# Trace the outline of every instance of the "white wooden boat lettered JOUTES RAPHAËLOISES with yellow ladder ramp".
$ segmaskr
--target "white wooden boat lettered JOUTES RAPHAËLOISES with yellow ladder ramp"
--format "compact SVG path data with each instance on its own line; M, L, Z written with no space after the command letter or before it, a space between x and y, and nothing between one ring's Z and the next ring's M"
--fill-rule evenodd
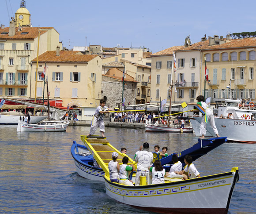
M108 162L116 149L106 138L81 136L105 172L105 189L118 202L158 213L226 214L236 182L238 167L230 172L184 181L166 180L163 184L121 185L109 179ZM142 179L143 180L143 179Z

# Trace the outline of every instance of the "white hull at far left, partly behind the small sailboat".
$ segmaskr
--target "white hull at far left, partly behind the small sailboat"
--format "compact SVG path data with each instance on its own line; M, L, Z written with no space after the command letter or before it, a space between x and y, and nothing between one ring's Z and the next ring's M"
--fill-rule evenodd
M20 117L23 118L23 116L19 115L0 114L0 124L17 125L20 120ZM30 124L39 123L40 121L45 120L46 118L47 116L30 116Z

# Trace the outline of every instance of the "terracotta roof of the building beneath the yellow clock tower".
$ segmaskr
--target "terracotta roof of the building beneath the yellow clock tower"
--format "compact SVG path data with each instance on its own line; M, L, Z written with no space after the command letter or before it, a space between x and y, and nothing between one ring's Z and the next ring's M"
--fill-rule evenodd
M6 27L4 29L0 28L0 39L5 39L5 40L23 40L23 39L35 39L38 37L38 31L39 29L43 29L43 28L39 28L39 27L22 27L22 31L18 31L19 28L15 28L15 35L14 36L9 36L9 34L1 34L3 32L8 32L9 33L9 27ZM45 28L47 29L47 28ZM25 33L28 32L27 34L21 34L21 33ZM41 30L40 34L46 33L46 30Z

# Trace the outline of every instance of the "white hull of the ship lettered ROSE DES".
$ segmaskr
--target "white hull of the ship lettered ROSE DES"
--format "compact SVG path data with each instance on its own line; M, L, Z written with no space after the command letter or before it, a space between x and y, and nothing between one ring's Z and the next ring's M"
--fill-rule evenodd
M194 118L198 123L200 123L202 120L202 117ZM218 134L220 136L226 136L228 141L256 143L256 138L253 134L256 131L255 120L225 119L216 117L215 125L218 129ZM215 135L213 129L208 123L206 125L206 130L208 133L213 134L212 136Z

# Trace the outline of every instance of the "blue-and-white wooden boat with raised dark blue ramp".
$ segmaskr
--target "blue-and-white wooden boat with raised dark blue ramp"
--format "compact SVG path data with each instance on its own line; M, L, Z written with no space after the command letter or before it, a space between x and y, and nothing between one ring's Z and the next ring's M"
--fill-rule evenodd
M84 139L81 139L84 142ZM93 136L94 138L98 138L99 136ZM188 148L182 152L178 152L177 156L179 161L184 165L184 157L186 155L190 155L193 158L193 161L197 160L201 156L207 154L211 150L215 149L216 147L222 145L226 142L226 137L222 138L204 138L204 139L198 139L198 143L193 145L191 148ZM72 147L71 147L71 154L75 161L75 168L77 173L82 176L83 178L87 178L90 180L97 180L97 181L104 181L104 171L102 168L94 167L93 166L93 156L87 155L83 156L83 154L88 154L88 149L84 145L77 144L76 141L73 141ZM124 154L117 151L118 154L121 156L124 156ZM160 159L159 156L154 153L154 159ZM165 164L172 164L172 155L169 155L167 157L164 157L161 159L162 165ZM120 157L121 158L121 157ZM109 160L110 161L110 160ZM121 163L121 162L120 162ZM165 167L168 170L168 167Z

